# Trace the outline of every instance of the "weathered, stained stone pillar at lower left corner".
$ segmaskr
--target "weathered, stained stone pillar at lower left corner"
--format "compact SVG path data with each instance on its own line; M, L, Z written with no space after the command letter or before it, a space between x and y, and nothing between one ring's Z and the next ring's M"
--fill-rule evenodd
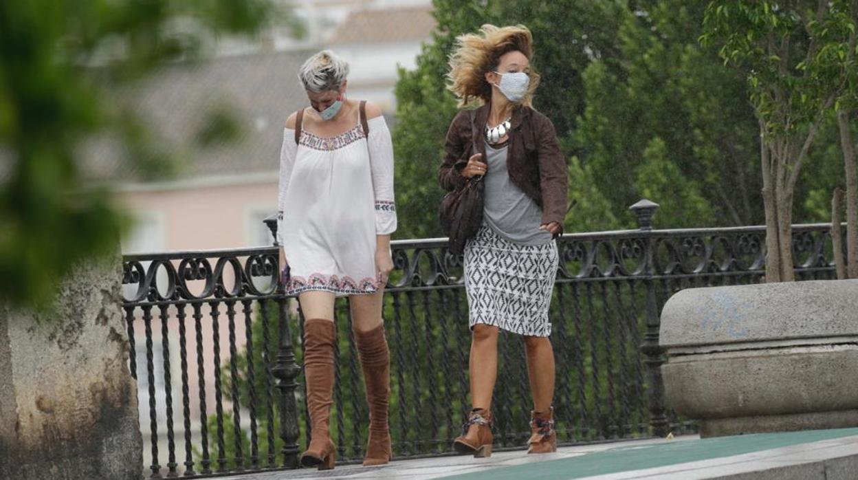
M82 264L51 311L0 306L0 478L141 478L120 265Z

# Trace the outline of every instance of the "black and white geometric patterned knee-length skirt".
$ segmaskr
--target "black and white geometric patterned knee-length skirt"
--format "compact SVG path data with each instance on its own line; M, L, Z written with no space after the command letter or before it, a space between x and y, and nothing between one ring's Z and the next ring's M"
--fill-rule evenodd
M465 246L470 327L486 324L529 337L551 335L548 307L557 266L555 242L517 244L484 225Z

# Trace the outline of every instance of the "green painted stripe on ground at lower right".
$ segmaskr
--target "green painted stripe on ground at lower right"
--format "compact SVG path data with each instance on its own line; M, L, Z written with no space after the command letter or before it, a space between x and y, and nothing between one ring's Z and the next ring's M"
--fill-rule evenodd
M720 459L745 453L762 452L773 448L789 447L801 443L824 441L858 435L858 428L809 430L776 434L747 434L692 441L666 441L643 447L618 447L604 452L586 453L567 459L547 460L528 465L515 465L466 473L447 480L568 480L571 478L607 475L620 471L644 470L678 465L699 460Z

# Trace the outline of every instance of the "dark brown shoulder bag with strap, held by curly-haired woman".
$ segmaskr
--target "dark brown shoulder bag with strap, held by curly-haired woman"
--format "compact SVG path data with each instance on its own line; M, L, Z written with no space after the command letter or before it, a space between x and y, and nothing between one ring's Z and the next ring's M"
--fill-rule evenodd
M474 128L474 111L471 111L471 138L475 139L476 129ZM476 144L472 142L470 155L477 151ZM466 152L466 157L470 155ZM461 255L465 251L465 244L468 243L482 227L483 208L485 206L485 198L483 194L482 176L471 177L462 186L450 193L444 195L441 200L441 209L438 212L441 228L444 229L444 234L450 238L450 252L454 255Z

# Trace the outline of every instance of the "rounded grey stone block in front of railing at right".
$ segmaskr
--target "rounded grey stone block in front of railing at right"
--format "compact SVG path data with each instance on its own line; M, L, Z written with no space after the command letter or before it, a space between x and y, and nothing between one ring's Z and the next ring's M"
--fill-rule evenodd
M858 426L858 280L683 290L660 344L668 406L704 437Z

